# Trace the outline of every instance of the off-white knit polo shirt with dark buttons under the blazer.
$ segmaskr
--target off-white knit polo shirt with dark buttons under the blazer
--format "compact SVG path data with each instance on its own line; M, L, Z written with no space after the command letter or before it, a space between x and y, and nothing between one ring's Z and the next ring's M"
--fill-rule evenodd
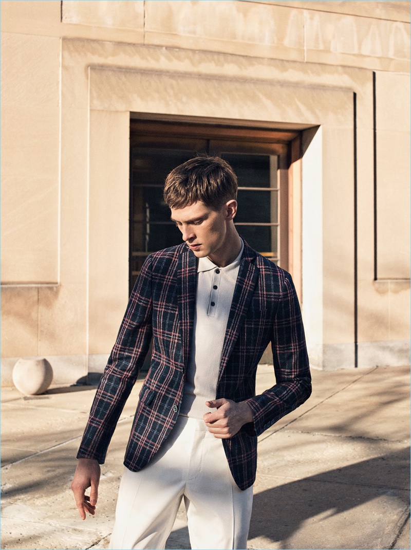
M207 257L198 260L196 312L190 359L186 372L182 416L202 419L212 412L205 401L215 399L218 372L232 296L244 250L226 267L218 267Z

